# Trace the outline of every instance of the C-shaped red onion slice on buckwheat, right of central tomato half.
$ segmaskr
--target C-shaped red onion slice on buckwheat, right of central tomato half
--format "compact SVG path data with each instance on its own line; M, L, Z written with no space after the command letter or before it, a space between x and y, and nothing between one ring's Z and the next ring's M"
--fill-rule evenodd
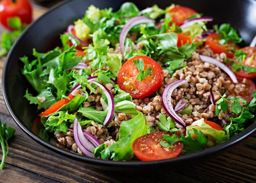
M179 87L180 85L183 85L186 82L187 81L185 79L173 81L172 83L166 86L162 94L162 103L165 111L174 121L176 121L183 127L186 127L186 123L182 120L182 118L180 118L180 116L176 114L172 104L168 105L168 102L171 102L171 95L173 93L173 90Z

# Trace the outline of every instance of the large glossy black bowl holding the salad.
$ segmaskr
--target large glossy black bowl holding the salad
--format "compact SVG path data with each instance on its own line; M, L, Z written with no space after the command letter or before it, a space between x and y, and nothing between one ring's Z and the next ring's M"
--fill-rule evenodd
M136 171L152 168L153 170L161 170L164 167L177 169L178 167L184 168L194 163L203 162L223 153L229 147L256 131L256 124L253 124L234 138L201 152L168 160L150 162L104 161L80 156L57 147L54 141L51 140L49 133L43 130L40 123L34 122L36 106L29 105L29 102L23 97L26 89L31 89L31 87L26 78L21 74L22 63L19 61L19 58L24 55L32 55L33 48L36 48L40 52L46 52L56 46L60 46L61 41L59 40L59 35L65 31L67 25L71 24L77 18L83 17L85 10L90 4L94 4L99 8L112 7L115 11L123 2L125 0L71 0L63 2L36 20L17 40L8 54L4 66L2 89L4 100L11 116L26 134L41 145L54 150L56 153L83 162L86 165L113 171ZM153 4L158 4L159 7L165 8L171 3L188 6L200 13L204 13L205 16L212 16L214 17L214 24L230 23L243 37L244 41L241 43L241 46L249 45L249 42L256 35L256 1L253 0L147 0L144 2L135 2L139 9L144 9Z

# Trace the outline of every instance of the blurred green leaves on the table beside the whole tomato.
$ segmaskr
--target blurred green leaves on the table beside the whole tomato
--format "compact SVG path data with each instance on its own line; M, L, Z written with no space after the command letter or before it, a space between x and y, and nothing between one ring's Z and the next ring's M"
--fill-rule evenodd
M3 31L1 38L1 46L0 57L4 56L11 49L15 40L20 36L20 34L26 29L27 25L22 25L19 17L15 16L7 19L7 23L9 27L14 28L15 30L12 32Z

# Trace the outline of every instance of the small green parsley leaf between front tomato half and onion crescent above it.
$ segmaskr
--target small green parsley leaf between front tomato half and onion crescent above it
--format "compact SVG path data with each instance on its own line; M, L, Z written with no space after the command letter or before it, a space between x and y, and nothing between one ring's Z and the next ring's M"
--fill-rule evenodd
M164 114L161 113L159 121L160 122L157 123L157 126L159 127L159 129L161 131L170 132L170 133L174 133L174 132L179 131L177 128L175 128L175 124L173 122L173 119L170 116L168 116L168 118L166 120L166 117L164 116Z

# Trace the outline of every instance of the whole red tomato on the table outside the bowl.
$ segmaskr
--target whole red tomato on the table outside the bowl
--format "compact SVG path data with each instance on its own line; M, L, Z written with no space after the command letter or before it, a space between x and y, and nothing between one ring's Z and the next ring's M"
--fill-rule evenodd
M10 30L13 28L8 26L7 19L12 17L20 17L22 24L29 25L32 21L32 8L28 0L1 0L0 1L0 22Z

